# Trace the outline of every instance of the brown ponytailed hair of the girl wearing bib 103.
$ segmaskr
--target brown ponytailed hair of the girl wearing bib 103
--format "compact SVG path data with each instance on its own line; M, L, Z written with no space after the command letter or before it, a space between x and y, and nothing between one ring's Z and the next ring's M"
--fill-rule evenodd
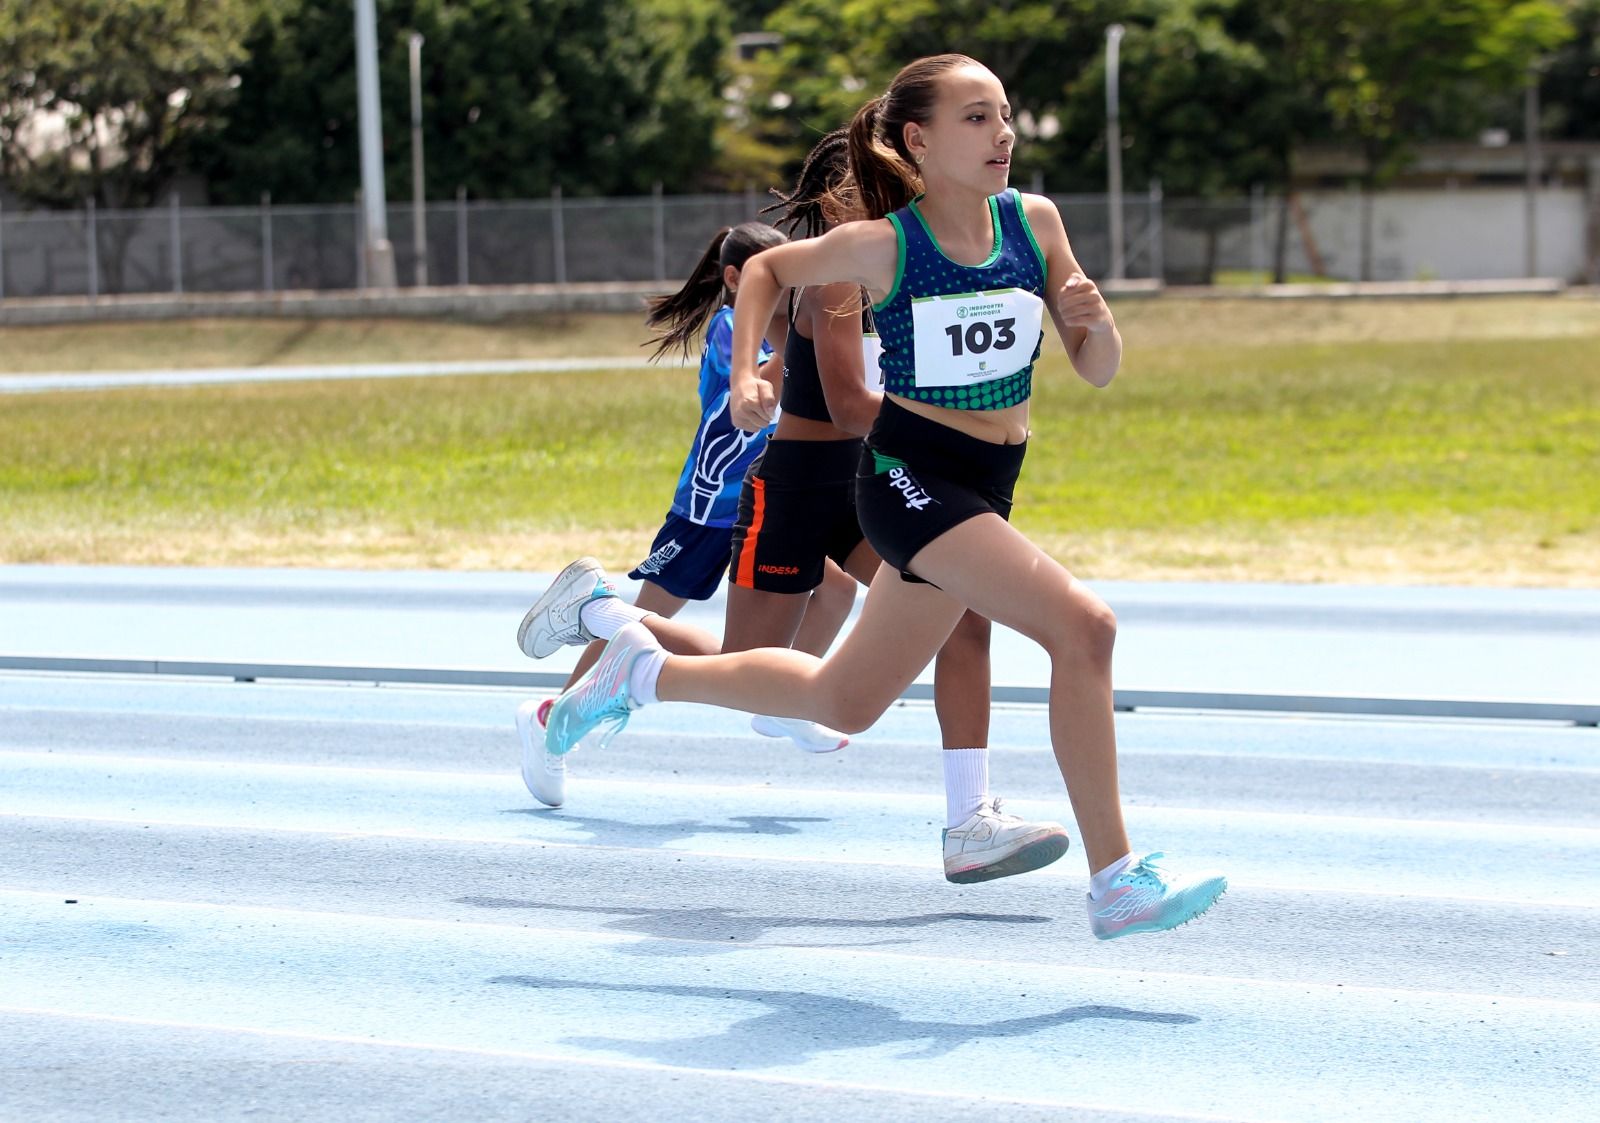
M982 62L966 54L930 54L907 62L883 94L856 110L850 122L850 168L867 218L883 218L922 190L922 174L906 147L906 126L933 120L939 78L963 66Z

